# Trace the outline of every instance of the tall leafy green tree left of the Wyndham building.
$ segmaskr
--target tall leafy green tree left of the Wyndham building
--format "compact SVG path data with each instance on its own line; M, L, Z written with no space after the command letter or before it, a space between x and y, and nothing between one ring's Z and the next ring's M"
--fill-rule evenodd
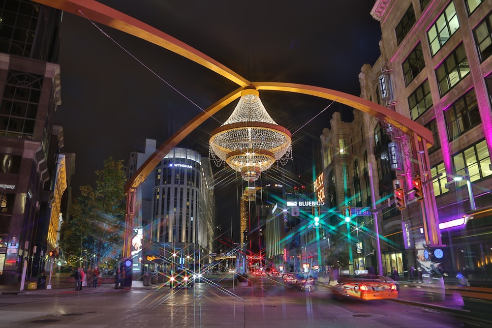
M123 160L109 157L103 162L104 168L95 172L95 190L90 185L80 187L80 196L70 209L70 220L62 224L60 245L69 263L82 258L83 262L96 265L123 249Z

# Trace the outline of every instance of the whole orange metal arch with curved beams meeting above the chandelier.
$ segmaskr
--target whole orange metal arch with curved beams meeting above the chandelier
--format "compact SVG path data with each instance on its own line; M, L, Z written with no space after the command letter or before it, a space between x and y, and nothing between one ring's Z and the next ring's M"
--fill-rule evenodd
M217 74L227 78L233 83L239 85L239 89L229 93L215 104L210 106L206 113L200 113L194 119L187 122L178 132L173 134L159 149L155 150L154 154L138 169L125 185L127 192L127 217L125 226L125 236L123 245L123 255L130 254L130 230L133 224L133 197L134 190L142 183L153 168L157 165L160 159L166 155L171 149L177 146L186 135L198 127L210 116L214 115L220 109L239 98L241 91L246 87L254 87L258 90L277 90L289 91L296 93L308 94L316 97L331 99L350 107L359 109L370 115L385 119L388 123L396 125L405 132L412 132L417 139L422 140L425 145L430 147L433 144L431 131L424 128L413 120L389 110L386 107L336 90L313 87L307 85L290 84L290 83L251 83L244 77L235 73L231 69L213 60L198 50L188 46L180 40L160 31L152 26L145 24L131 16L128 16L120 11L108 7L94 0L34 0L38 3L45 4L65 12L88 18L91 21L102 23L106 26L121 30L128 34L134 35L141 39L152 42L162 48L168 49L178 55L181 55L189 60L192 60L204 67L209 68Z

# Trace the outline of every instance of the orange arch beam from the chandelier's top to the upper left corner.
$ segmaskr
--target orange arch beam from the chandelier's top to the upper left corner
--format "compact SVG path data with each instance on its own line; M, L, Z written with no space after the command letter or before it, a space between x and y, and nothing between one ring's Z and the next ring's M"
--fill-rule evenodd
M207 67L240 87L246 87L251 84L241 75L195 48L188 46L186 43L100 2L94 0L34 1L83 18L88 18L91 21L104 24L116 30L121 30L140 39L154 43L155 45Z

